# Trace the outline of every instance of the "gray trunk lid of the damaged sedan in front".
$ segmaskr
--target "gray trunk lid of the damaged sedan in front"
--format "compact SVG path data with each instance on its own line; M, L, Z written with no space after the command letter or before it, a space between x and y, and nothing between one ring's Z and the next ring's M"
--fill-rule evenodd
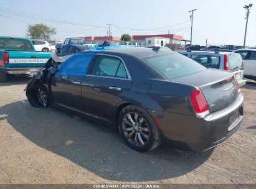
M171 81L199 87L206 98L210 113L229 106L239 95L234 75L229 71L207 69Z

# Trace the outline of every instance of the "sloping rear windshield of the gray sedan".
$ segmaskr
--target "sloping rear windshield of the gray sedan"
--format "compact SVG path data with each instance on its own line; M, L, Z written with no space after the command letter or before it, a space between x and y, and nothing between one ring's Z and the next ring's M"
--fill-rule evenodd
M168 80L207 69L179 53L146 57L142 60Z

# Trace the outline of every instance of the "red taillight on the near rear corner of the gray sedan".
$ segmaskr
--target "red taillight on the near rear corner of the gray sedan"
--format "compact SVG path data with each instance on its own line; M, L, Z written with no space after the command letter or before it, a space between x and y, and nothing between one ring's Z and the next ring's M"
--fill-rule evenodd
M204 116L209 114L206 98L204 98L204 94L202 94L202 91L199 88L192 91L190 99L197 117L204 118Z

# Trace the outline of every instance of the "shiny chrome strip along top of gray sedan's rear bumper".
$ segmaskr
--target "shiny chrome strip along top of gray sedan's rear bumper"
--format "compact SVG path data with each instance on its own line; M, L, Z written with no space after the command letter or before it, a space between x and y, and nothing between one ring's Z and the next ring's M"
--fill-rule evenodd
M222 118L224 116L227 116L227 114L232 113L233 111L235 111L235 109L239 108L242 103L244 102L244 96L242 96L242 94L239 94L238 99L229 107L222 109L216 113L212 113L207 115L206 117L204 117L204 120L206 121L214 121L216 119Z

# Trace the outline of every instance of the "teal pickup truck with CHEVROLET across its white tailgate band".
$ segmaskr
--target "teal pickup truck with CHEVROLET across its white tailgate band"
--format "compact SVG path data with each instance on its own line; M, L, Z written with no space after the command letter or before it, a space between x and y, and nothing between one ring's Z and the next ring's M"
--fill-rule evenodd
M0 81L6 81L7 74L36 73L49 60L50 54L36 52L30 39L0 36Z

